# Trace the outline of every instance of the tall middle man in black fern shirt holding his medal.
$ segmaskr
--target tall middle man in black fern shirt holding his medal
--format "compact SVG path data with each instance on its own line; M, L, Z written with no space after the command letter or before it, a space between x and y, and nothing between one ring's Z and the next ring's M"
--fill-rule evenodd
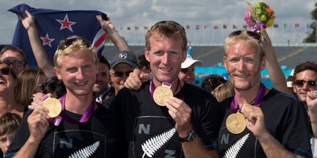
M145 41L152 80L142 84L138 77L141 89L124 87L112 104L124 121L129 157L214 154L218 102L211 93L178 78L181 63L186 59L185 29L174 21L161 21L151 27ZM166 106L153 100L156 89L161 93L159 98L167 93L159 87L171 90L173 97L167 98ZM196 150L197 146L208 150L201 152Z

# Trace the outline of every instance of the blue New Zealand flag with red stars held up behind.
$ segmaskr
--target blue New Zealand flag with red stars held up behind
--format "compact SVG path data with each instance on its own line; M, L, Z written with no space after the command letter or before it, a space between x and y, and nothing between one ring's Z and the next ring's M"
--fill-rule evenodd
M95 47L98 56L101 56L106 34L96 19L96 14L101 15L106 20L107 15L103 12L96 10L61 11L36 9L31 8L25 3L17 5L9 11L23 17L25 10L28 10L35 17L35 25L37 25L37 29L39 30L39 36L52 63L59 42L68 38L68 36L74 35L88 39L93 47ZM32 52L28 32L20 20L14 32L12 46L23 49L30 67L37 67L37 61Z

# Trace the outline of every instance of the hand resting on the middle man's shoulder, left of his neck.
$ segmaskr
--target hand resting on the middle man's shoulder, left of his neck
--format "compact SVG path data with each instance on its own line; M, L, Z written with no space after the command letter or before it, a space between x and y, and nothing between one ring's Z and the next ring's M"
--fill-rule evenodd
M124 86L128 89L138 90L141 88L142 82L150 80L150 75L145 74L139 69L134 69L132 73L130 73L127 80L125 80Z

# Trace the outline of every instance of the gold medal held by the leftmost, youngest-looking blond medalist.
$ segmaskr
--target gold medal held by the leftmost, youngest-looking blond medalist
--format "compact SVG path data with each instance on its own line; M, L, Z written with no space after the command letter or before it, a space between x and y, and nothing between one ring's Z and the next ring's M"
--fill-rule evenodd
M56 98L48 97L43 101L43 106L48 109L46 113L48 113L48 116L51 118L57 117L59 113L61 113L61 102Z

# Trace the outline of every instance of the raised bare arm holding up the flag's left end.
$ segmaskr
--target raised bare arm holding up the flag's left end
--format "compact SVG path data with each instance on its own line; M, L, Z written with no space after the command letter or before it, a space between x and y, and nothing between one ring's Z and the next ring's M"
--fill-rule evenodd
M34 16L25 10L24 17L19 16L19 14L18 17L25 27L25 30L28 31L32 51L35 59L37 60L37 65L39 65L39 69L41 69L47 77L56 76L54 66L50 62L48 52L46 52L46 49L42 45L37 26L35 25Z

